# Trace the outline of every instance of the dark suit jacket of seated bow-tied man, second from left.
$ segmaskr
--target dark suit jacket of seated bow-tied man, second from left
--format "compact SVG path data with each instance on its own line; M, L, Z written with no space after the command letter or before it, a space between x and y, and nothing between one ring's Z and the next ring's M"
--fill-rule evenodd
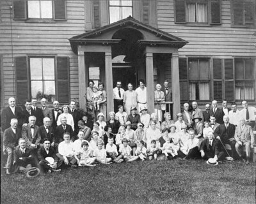
M32 135L29 124L28 126L22 127L21 135L22 135L22 138L24 138L26 141L26 147L29 147L31 144L40 145L41 138L40 138L40 135L38 134L38 131L39 131L39 127L35 126L34 134Z

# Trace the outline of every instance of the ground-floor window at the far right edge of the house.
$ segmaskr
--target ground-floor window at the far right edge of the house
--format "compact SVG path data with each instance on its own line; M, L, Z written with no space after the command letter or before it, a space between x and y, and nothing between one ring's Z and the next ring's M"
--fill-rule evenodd
M237 100L255 99L255 61L235 59L235 90Z

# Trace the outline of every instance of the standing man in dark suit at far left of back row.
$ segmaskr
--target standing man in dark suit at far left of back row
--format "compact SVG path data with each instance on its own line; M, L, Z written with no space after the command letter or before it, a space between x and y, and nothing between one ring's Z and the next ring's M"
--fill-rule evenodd
M18 128L22 127L22 110L20 107L15 106L15 98L8 99L9 106L4 108L1 113L1 128L4 132L5 129L10 128L11 120L18 119Z

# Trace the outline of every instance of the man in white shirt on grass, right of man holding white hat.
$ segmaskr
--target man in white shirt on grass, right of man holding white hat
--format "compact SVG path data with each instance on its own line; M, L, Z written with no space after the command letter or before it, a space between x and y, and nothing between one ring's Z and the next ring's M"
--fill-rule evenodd
M66 165L76 167L76 152L74 150L74 143L70 142L70 134L68 132L63 133L63 139L64 141L58 146L59 153L57 153L57 156L63 159Z

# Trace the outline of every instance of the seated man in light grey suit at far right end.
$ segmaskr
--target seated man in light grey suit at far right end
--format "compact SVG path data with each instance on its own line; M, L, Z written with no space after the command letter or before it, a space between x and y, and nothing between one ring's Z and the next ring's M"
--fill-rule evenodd
M246 164L249 163L250 147L254 145L254 135L252 127L246 125L245 119L239 120L240 124L236 127L235 140L236 140L236 152L238 156L242 157L241 147L245 147L246 150ZM244 160L244 159L243 159Z

